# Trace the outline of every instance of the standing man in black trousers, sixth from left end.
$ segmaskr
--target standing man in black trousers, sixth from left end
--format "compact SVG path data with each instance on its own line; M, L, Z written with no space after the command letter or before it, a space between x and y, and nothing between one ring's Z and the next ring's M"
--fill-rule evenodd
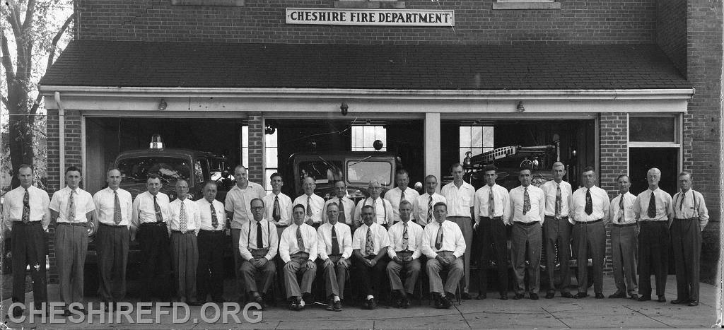
M224 229L226 213L224 204L216 200L216 182L203 185L203 198L196 200L198 208L198 268L196 268L196 293L198 302L205 303L211 294L214 303L224 302Z

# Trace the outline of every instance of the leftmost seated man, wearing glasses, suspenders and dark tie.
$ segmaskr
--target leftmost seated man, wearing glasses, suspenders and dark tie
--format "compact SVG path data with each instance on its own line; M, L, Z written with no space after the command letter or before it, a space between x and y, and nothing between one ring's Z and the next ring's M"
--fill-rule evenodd
M264 298L259 295L257 277L261 282L261 292L266 294L274 280L276 266L274 255L277 255L277 226L264 219L264 201L258 198L251 200L252 221L241 225L239 238L239 252L244 263L241 264L241 274L244 276L244 287L248 297L264 309Z

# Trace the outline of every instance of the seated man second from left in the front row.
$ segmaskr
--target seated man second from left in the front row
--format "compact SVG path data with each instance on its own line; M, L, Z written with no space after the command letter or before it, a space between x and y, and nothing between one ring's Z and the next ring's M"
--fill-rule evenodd
M311 293L316 275L316 230L304 223L305 210L301 204L292 208L294 223L284 229L282 240L279 241L279 255L285 262L284 285L291 310L304 309L303 296ZM297 274L302 274L301 285L297 283Z

